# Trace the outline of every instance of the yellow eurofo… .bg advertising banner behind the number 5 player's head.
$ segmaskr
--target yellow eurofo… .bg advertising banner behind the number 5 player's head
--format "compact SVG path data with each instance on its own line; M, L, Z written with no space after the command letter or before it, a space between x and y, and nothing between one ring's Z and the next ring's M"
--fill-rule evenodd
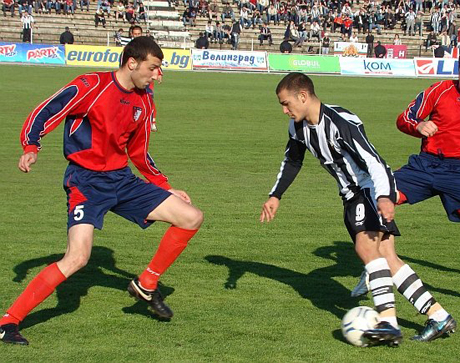
M122 50L122 47L66 44L66 64L93 68L118 68ZM189 49L163 49L163 54L163 69L192 69Z

